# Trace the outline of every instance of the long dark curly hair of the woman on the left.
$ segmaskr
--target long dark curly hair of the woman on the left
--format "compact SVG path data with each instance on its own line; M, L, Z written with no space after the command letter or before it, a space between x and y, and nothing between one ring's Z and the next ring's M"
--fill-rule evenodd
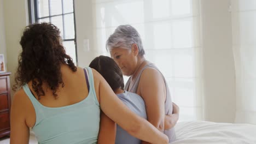
M61 65L67 64L72 71L77 71L62 45L59 28L45 22L29 25L24 29L20 45L22 52L19 55L14 91L32 81L32 88L40 99L40 96L45 95L42 85L47 83L57 98L57 89L60 85L64 87Z

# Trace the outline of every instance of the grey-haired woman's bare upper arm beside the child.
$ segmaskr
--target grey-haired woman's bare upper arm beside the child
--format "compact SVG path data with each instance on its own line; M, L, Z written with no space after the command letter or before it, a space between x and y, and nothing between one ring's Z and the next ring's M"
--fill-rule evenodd
M138 93L145 102L148 121L164 132L166 87L158 70L147 68L143 71Z

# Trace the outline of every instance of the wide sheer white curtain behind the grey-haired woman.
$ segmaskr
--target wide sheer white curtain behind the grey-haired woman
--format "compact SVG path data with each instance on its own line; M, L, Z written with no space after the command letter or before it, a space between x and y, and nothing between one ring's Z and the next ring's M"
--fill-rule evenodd
M108 55L106 40L117 26L132 25L146 58L166 77L180 119L202 119L199 1L96 0L92 8L97 53Z

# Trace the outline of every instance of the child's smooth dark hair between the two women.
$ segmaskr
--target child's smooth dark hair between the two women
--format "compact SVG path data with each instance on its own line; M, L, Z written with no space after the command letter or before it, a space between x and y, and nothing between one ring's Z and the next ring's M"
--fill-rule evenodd
M107 56L96 57L91 61L89 67L97 70L113 91L118 88L124 89L123 73L112 58Z

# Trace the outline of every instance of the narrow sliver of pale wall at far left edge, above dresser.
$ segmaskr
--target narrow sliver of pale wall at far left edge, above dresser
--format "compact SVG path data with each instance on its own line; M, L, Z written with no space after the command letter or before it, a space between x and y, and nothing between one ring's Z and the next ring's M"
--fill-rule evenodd
M5 47L3 0L0 0L0 54L4 55L4 61L5 61L5 67L6 67L7 54L6 54L6 47Z

